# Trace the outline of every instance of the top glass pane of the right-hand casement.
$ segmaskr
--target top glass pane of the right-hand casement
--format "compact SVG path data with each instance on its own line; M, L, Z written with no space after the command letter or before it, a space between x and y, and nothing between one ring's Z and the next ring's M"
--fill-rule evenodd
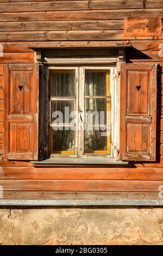
M110 95L110 70L85 71L85 95L109 96Z

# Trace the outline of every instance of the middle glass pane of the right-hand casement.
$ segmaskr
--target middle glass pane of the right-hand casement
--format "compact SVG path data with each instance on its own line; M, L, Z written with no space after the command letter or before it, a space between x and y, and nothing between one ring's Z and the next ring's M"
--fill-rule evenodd
M105 125L110 124L110 99L85 99L85 124Z

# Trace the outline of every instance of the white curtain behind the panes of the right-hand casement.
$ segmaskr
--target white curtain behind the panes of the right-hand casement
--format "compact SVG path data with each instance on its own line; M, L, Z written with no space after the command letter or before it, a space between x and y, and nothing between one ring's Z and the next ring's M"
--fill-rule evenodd
M106 96L106 73L105 72L87 72L85 75L85 95L87 96ZM85 99L85 111L106 112L106 100L99 98L86 98ZM97 115L98 117L98 115ZM90 120L91 119L91 120ZM92 117L86 115L86 124L92 123ZM95 117L93 117L93 125L96 123ZM99 124L99 119L98 119ZM98 127L87 127L85 131L84 141L85 150L104 150L106 147L106 137L101 137L101 130Z

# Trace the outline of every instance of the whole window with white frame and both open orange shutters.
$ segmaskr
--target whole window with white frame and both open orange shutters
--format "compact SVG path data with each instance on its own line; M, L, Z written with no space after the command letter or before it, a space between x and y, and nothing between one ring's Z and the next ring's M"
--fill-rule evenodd
M5 159L155 161L157 65L96 53L43 51L40 65L4 65Z

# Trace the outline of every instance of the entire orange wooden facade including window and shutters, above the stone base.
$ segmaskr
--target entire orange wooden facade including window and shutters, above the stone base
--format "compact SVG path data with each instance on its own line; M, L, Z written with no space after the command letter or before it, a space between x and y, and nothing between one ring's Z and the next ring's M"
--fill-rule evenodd
M0 204L163 205L163 2L0 3Z

